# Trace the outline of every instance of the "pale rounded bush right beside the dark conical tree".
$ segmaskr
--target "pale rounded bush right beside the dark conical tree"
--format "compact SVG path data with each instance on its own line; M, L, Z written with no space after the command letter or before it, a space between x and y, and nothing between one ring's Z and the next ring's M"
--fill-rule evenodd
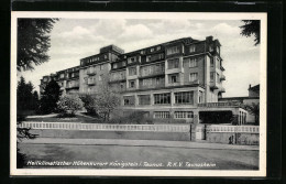
M57 108L62 115L75 116L77 110L82 109L84 104L81 99L76 95L61 96L57 101ZM69 116L70 115L70 116Z

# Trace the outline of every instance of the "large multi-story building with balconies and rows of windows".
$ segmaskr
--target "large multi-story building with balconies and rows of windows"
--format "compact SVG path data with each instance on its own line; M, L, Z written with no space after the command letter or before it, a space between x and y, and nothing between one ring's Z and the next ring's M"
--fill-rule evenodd
M220 42L184 37L124 53L116 45L80 59L80 65L44 76L55 78L65 93L92 94L108 78L121 95L120 110L145 111L150 117L186 119L199 122L206 112L231 112L244 123L246 111L231 102L218 102L223 88L223 61Z

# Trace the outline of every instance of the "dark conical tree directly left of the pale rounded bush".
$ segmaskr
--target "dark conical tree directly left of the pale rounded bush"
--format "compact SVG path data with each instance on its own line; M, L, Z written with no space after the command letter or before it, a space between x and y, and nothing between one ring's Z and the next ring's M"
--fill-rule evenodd
M62 91L58 84L52 79L45 87L40 100L40 113L51 113L56 110Z

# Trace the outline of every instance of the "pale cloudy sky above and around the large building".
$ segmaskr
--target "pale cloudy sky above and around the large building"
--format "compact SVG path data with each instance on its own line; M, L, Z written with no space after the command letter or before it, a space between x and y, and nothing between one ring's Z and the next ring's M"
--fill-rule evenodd
M239 20L190 19L61 19L51 32L50 61L33 72L18 72L38 90L40 79L79 65L79 59L114 44L127 52L180 37L205 40L212 35L221 43L227 80L223 97L248 96L249 85L260 84L260 45L254 37L240 35Z

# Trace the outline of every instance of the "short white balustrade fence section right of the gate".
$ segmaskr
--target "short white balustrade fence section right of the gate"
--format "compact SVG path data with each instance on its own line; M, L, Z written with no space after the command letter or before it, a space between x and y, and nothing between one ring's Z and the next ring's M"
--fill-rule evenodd
M207 132L260 133L258 126L208 126Z

